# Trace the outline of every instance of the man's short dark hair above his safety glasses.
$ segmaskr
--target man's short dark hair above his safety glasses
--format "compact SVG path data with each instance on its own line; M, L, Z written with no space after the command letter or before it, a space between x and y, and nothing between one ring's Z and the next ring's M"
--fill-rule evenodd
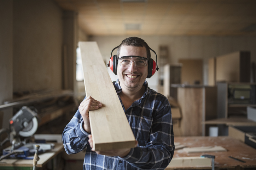
M145 47L146 48L146 52L147 52L147 58L151 58L151 53L150 53L150 48L149 45L147 45L147 43L138 37L129 37L126 38L122 41L122 43L118 46L116 55L117 57L119 57L120 54L120 49L123 45L130 45L130 46L140 46L140 47Z

